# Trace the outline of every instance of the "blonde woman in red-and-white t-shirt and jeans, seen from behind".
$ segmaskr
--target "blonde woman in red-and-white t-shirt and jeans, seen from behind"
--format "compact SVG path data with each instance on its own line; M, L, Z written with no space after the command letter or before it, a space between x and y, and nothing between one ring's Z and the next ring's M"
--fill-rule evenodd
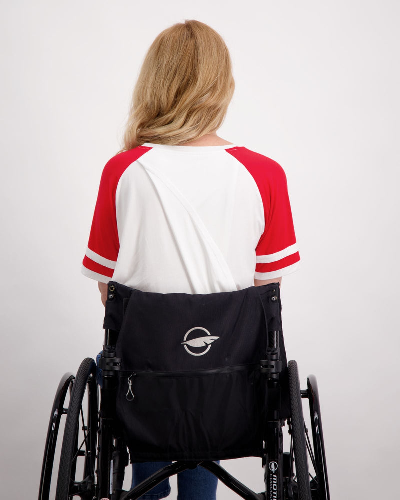
M281 282L299 262L287 184L273 160L220 138L234 90L227 47L186 21L151 45L122 152L105 166L82 272L159 293L214 293ZM134 464L133 483L163 463ZM178 500L211 500L201 467ZM164 498L164 481L143 496Z

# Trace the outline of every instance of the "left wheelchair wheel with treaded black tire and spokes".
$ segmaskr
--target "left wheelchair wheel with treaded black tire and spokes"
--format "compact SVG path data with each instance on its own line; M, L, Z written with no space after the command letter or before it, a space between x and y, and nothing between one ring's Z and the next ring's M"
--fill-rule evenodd
M87 391L87 409L82 403ZM95 460L98 429L98 389L96 363L83 360L73 383L62 441L55 500L73 496L92 500L95 496ZM83 432L83 436L79 435ZM76 480L78 459L83 458L82 479Z

